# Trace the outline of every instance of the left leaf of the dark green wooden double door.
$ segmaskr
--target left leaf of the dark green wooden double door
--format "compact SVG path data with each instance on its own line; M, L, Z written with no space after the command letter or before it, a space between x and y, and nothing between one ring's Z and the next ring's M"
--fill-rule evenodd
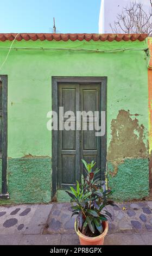
M76 103L77 102L77 103ZM74 83L60 83L58 86L58 109L64 107L60 117L62 125L68 121L67 111L74 112L72 127L76 128L76 111L79 110L79 87ZM59 111L59 110L58 110ZM65 126L64 126L65 127ZM58 188L69 188L79 180L79 131L62 130L58 132Z

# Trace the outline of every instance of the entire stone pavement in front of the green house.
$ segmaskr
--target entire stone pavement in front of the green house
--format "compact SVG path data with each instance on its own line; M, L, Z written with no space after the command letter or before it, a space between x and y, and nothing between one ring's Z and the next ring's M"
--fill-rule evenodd
M105 245L152 245L152 202L117 205ZM71 214L69 203L0 206L0 245L79 245Z

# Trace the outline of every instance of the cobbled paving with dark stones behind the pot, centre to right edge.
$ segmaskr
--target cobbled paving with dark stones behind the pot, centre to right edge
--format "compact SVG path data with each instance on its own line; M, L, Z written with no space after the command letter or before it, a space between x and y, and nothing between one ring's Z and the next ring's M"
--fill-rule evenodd
M126 233L131 230L136 232L152 231L152 202L117 205L118 207L107 206L107 210L112 215L112 220L109 220L109 233ZM75 216L71 218L71 212L69 203L54 204L45 233L73 234L75 232L73 229Z

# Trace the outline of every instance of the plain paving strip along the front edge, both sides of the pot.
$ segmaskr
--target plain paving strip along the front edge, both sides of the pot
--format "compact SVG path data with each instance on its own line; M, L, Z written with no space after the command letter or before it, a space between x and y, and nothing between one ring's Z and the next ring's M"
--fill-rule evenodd
M77 234L0 235L0 245L79 245ZM152 245L152 233L107 234L104 245Z

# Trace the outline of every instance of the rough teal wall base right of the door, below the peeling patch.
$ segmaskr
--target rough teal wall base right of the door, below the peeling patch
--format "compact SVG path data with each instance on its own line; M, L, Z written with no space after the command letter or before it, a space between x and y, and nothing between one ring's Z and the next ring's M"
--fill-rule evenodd
M107 163L108 186L115 190L113 197L118 200L142 199L149 193L148 159L125 159L117 166Z

